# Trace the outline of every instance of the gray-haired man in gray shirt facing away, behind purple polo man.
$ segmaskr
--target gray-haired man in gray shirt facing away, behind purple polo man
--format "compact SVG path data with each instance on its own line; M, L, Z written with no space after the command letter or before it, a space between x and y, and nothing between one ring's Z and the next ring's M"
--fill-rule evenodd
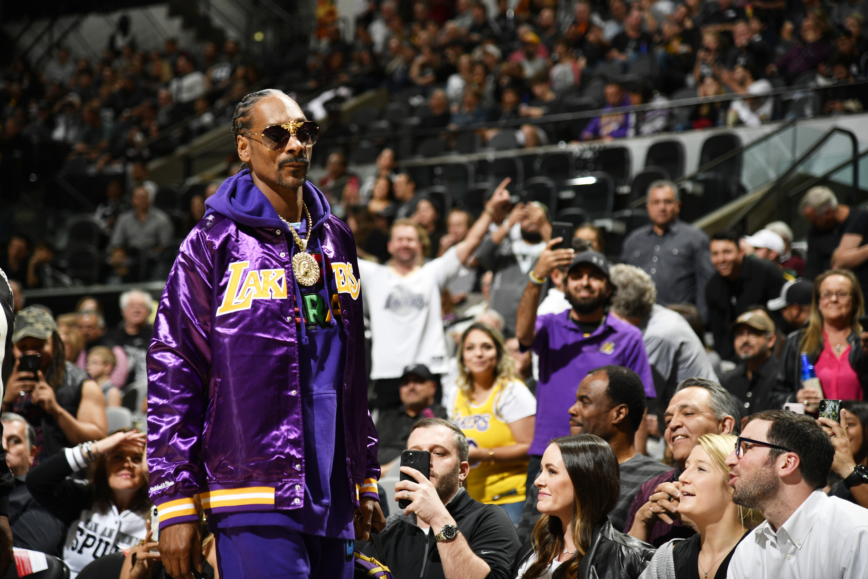
M657 288L648 273L618 264L609 275L617 288L610 313L641 330L660 408L666 408L675 387L685 378L718 382L705 346L687 319L655 303Z

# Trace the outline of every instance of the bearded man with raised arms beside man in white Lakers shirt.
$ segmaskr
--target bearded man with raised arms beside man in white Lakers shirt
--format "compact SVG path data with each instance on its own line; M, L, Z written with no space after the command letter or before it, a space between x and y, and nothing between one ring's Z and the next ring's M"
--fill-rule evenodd
M516 204L509 218L479 246L477 260L483 269L494 273L490 307L503 316L503 333L507 336L516 332L516 309L527 285L528 273L550 238L551 224L546 208L534 201Z

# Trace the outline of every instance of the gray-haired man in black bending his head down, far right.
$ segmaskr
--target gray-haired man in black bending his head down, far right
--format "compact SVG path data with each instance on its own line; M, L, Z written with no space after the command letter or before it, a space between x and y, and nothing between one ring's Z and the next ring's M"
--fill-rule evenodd
M865 212L838 203L838 197L827 187L812 187L799 201L799 214L811 224L808 229L808 253L805 260L806 280L813 280L832 266L832 253L845 232L856 225Z

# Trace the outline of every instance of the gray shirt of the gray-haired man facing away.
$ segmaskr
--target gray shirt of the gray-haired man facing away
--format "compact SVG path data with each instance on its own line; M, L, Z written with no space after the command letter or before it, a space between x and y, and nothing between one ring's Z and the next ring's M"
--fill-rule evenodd
M654 376L654 390L664 403L684 378L708 378L720 382L699 336L680 313L654 304L639 329Z

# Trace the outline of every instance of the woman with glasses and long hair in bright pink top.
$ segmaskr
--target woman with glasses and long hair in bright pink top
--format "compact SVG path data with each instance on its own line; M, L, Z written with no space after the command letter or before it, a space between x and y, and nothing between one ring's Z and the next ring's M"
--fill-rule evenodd
M819 405L821 398L865 399L868 391L868 332L859 324L865 300L856 276L845 269L831 269L814 280L808 325L793 332L780 352L778 380L771 401ZM801 352L807 352L823 395L804 388Z

